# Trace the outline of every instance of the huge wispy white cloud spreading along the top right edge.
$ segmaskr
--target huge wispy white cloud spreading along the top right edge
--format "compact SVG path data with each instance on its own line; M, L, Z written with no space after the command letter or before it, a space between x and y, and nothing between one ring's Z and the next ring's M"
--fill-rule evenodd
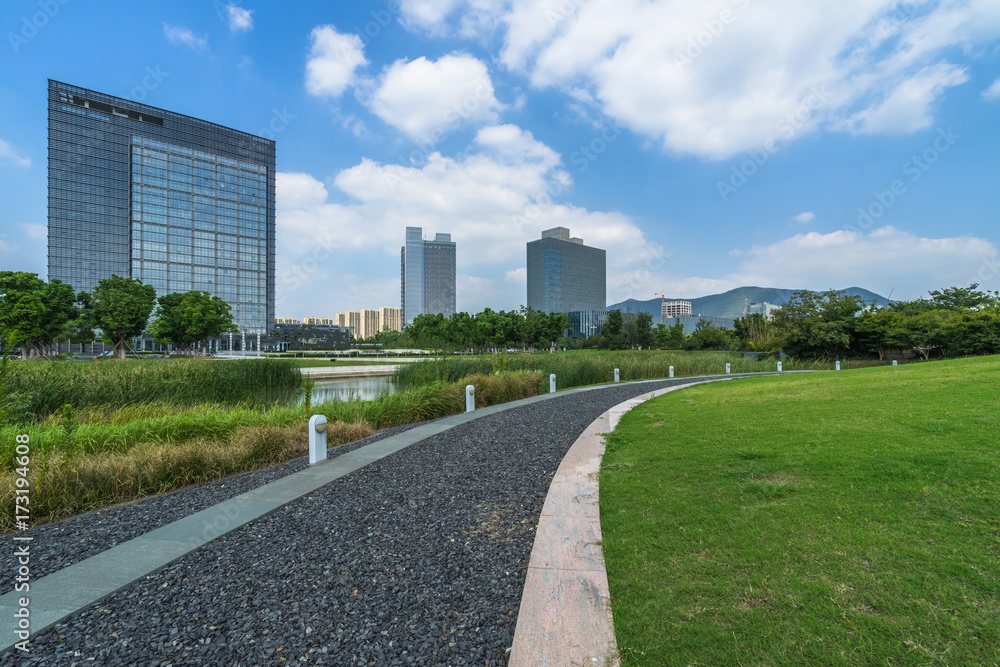
M414 0L430 32L485 0ZM404 3L405 4L405 3ZM910 132L1000 33L995 0L509 0L489 11L501 62L586 91L665 150L725 159L816 131ZM487 11L487 14L489 14Z

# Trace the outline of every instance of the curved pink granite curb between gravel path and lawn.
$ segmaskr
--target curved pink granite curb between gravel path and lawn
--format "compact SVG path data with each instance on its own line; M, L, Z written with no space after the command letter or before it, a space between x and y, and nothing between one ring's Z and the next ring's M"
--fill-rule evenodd
M598 475L603 436L640 403L704 382L659 389L619 403L570 447L538 518L510 652L512 667L619 664L601 551Z

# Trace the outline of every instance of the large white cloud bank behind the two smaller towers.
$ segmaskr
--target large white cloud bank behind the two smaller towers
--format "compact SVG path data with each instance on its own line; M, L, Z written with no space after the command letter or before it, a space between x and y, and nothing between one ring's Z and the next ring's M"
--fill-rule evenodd
M588 245L607 250L609 298L612 280L616 295L644 294L629 290L647 282L655 291L650 274L664 261L662 249L626 215L561 202L569 181L558 154L514 126L483 128L467 153L432 153L420 167L365 159L326 185L309 174L279 173L277 191L277 289L289 308L320 294L336 300L332 310L366 302L367 283L344 287L328 275L329 265L351 261L369 267L353 273L395 280L398 301L399 248L407 226L422 227L428 236L452 235L458 308L468 312L525 303L525 269L518 267L524 266L525 244L543 229L568 227ZM350 203L335 203L342 201ZM317 248L329 248L328 256L317 256ZM337 290L331 292L334 282Z

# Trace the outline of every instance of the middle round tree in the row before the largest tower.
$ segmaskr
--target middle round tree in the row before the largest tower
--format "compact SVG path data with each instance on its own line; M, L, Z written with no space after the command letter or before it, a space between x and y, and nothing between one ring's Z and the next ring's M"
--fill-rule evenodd
M125 341L146 329L155 303L152 285L115 275L97 281L92 302L94 323L104 342L115 346L117 359L125 359Z

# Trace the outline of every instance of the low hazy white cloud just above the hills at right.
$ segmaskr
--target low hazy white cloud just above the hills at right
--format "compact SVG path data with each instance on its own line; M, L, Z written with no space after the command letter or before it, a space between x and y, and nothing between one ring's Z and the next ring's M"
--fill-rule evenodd
M982 282L976 272L984 258L996 256L992 242L972 236L924 238L894 227L868 234L811 232L754 246L727 279L737 285L814 290L895 288L897 296L912 299L931 289Z

